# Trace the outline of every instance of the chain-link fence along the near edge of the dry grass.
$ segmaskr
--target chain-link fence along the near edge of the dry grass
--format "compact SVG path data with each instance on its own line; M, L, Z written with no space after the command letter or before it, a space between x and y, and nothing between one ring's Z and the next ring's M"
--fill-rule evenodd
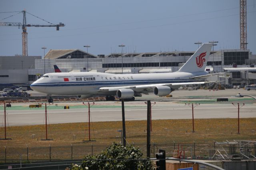
M146 158L146 144L134 144L138 146ZM106 145L93 143L70 144L69 146L40 146L40 147L0 147L1 162L12 160L81 160L85 155L94 155L107 148ZM241 158L256 158L255 143L239 146L239 144L212 145L193 143L176 144L151 144L150 157L154 158L159 149L166 151L166 157L190 158L190 159L214 159L232 158L240 155Z

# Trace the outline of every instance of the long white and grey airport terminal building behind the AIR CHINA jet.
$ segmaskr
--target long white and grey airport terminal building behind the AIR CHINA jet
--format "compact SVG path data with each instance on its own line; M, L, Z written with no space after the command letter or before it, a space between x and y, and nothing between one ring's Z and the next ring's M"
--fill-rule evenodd
M145 53L111 53L93 55L80 49L50 49L41 56L0 56L0 86L29 85L44 73L54 72L58 65L62 72L97 71L105 73L164 73L174 72L195 51L169 51ZM250 50L232 49L211 51L206 71L218 73L228 71L226 84L241 85L255 83L256 55Z

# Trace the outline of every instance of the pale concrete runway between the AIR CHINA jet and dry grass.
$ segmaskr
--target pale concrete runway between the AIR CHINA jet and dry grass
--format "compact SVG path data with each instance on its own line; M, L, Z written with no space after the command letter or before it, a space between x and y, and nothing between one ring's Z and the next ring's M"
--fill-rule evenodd
M225 92L233 93L232 91L220 91L223 95ZM247 92L247 91L243 91ZM252 93L253 92L253 93ZM207 95L209 91L182 91L183 94L197 93L200 95ZM177 94L182 94L177 93ZM212 93L211 93L212 94ZM255 95L254 95L255 94ZM256 96L256 92L251 91L250 95ZM148 99L152 98L159 100L154 95L146 96ZM145 99L143 96L140 99ZM179 96L186 98L187 96ZM162 99L162 98L160 98ZM194 102L198 103L198 99L166 99L157 101L152 106L152 119L192 119L192 109L184 103ZM240 118L256 117L256 102L248 98L232 98L228 102L216 102L216 99L200 99L201 104L194 109L194 119L209 119L209 118L237 118L238 109L232 105L234 103L245 103L240 109ZM208 102L202 102L208 101ZM199 102L200 103L200 102ZM56 103L55 103L56 104ZM88 122L88 108L80 103L57 103L56 105L48 107L48 121L51 124L56 123L78 123ZM7 108L7 118L9 126L20 125L42 125L45 121L44 107L41 109L28 108L29 103L13 103L12 108ZM64 109L64 105L70 105L70 109ZM122 108L120 101L97 101L95 105L90 108L91 121L122 121ZM0 121L3 122L3 109L0 110ZM125 119L130 120L146 120L147 105L144 101L130 101L125 102Z

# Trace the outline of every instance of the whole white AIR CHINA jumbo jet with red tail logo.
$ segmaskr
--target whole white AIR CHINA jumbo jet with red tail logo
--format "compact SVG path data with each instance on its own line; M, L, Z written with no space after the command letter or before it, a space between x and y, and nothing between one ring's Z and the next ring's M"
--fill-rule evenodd
M210 75L205 71L212 43L204 43L188 61L173 73L111 74L100 72L46 73L30 85L31 89L51 95L77 95L88 98L105 95L107 101L131 100L142 94L169 95L182 85L202 85L216 81L202 81ZM201 80L201 81L198 81Z

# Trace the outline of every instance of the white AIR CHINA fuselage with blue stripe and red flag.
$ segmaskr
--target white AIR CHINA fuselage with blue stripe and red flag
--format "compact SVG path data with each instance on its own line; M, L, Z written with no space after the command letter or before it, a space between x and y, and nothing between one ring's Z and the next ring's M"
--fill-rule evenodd
M99 89L100 87L193 82L195 80L189 79L190 77L206 74L208 73L205 71L142 74L46 73L32 83L30 87L33 90L49 95L115 95L114 91L100 91Z

